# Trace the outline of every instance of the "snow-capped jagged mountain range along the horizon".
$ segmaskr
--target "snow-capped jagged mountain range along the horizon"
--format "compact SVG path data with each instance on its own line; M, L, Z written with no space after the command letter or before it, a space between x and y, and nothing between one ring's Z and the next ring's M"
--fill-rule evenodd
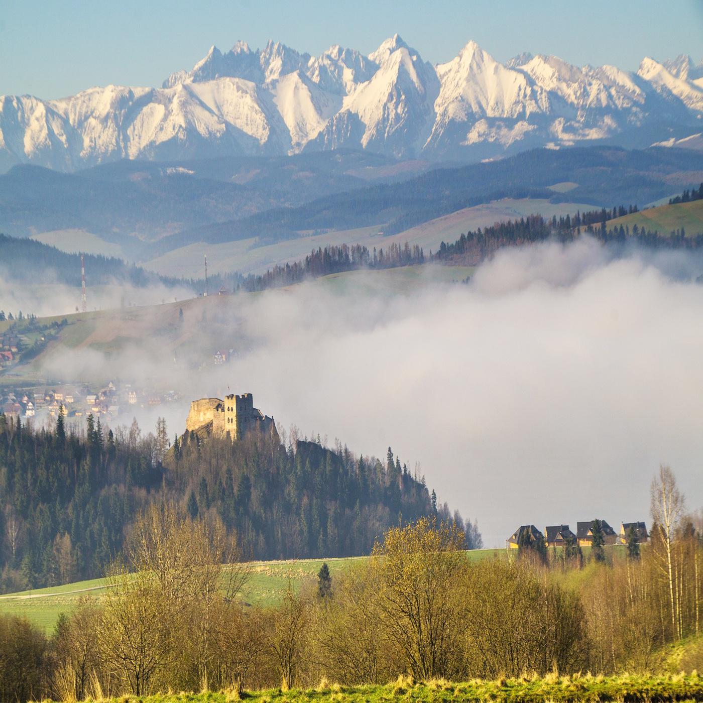
M334 148L477 160L594 141L674 144L702 126L703 62L688 56L645 58L631 73L525 53L503 64L474 41L432 65L398 34L368 56L238 42L213 46L160 89L1 96L0 171Z

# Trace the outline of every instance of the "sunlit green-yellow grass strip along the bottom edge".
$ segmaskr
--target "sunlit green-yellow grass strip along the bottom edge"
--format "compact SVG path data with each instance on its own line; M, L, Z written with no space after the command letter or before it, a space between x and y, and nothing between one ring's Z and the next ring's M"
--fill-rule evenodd
M401 676L394 683L386 685L340 686L323 681L317 688L245 692L241 698L259 703L312 703L328 700L375 703L396 699L476 703L703 701L703 677L697 673L688 676L627 673L619 676L592 676L586 673L573 676L548 674L543 678L525 676L496 681L475 679L463 683L444 680L414 683L411 678ZM238 699L240 698L234 692L170 693L146 697L124 695L104 699L103 703L232 703Z

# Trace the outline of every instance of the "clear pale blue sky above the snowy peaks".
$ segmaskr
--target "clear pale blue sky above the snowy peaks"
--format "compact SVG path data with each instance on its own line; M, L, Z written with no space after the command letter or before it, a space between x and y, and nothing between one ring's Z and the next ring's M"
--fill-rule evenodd
M531 51L636 70L645 55L703 58L703 1L1 0L0 95L160 85L237 39L368 53L395 32L432 63L475 39L498 60Z

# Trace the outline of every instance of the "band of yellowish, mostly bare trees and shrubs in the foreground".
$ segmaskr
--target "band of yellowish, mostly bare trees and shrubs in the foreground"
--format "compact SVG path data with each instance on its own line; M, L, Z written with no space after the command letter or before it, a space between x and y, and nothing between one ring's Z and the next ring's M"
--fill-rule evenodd
M105 595L60 618L50 640L37 631L33 640L4 638L21 621L0 620L0 654L31 662L23 677L0 673L0 697L241 697L247 688L393 680L404 695L413 680L661 670L665 645L699 633L703 595L700 525L683 511L666 468L652 482L652 519L652 543L641 553L583 567L576 555L525 545L471 560L456 525L423 517L386 531L367 560L335 576L323 565L316 583L252 607L240 597L247 568L219 517L153 504ZM22 647L34 657L22 658ZM700 650L678 650L679 669L700 663ZM626 697L638 695L652 691L631 688Z

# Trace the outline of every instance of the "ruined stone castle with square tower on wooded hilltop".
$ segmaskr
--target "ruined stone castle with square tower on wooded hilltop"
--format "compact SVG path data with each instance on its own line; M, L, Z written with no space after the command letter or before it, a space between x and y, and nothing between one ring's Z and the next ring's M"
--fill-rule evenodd
M191 402L186 419L186 430L212 437L227 437L232 441L242 439L250 430L276 432L273 418L254 408L251 393L228 395L219 398L201 398Z

